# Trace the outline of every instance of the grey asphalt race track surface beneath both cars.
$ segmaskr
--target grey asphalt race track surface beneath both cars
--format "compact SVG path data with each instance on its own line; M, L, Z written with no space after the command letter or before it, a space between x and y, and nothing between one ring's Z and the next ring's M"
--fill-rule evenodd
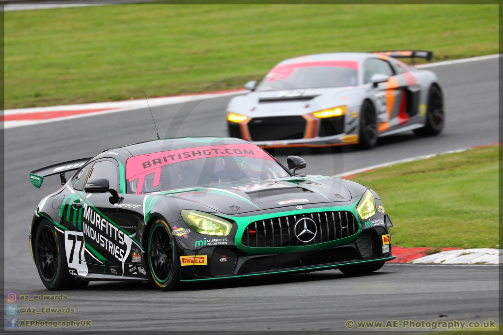
M344 152L337 148L332 153L331 149L297 148L275 154L283 162L286 154L300 154L307 161L307 173L335 175L387 161L497 142L498 60L432 70L438 74L445 95L447 120L440 136L390 136L370 151L345 147ZM229 99L153 108L159 134L224 135ZM38 276L27 237L38 202L60 187L59 178L47 178L37 190L28 180L29 172L154 138L147 108L5 131L6 292L49 293ZM143 283L94 282L85 290L65 294L66 301L18 301L18 307L70 306L75 308L74 314L18 314L18 319L86 319L92 320L92 330L209 331L344 330L348 319L483 321L497 320L498 316L496 266L385 265L364 277L351 278L331 270L186 285L167 293Z

